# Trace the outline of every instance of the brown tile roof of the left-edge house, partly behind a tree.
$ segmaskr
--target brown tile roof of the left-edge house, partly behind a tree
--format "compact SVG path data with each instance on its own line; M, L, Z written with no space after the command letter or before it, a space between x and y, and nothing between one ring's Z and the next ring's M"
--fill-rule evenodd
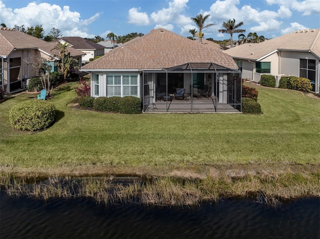
M8 56L14 49L40 49L48 55L59 55L59 52L53 49L55 44L55 42L47 42L12 28L0 27L0 56ZM68 52L71 56L85 54L73 47L69 47Z

